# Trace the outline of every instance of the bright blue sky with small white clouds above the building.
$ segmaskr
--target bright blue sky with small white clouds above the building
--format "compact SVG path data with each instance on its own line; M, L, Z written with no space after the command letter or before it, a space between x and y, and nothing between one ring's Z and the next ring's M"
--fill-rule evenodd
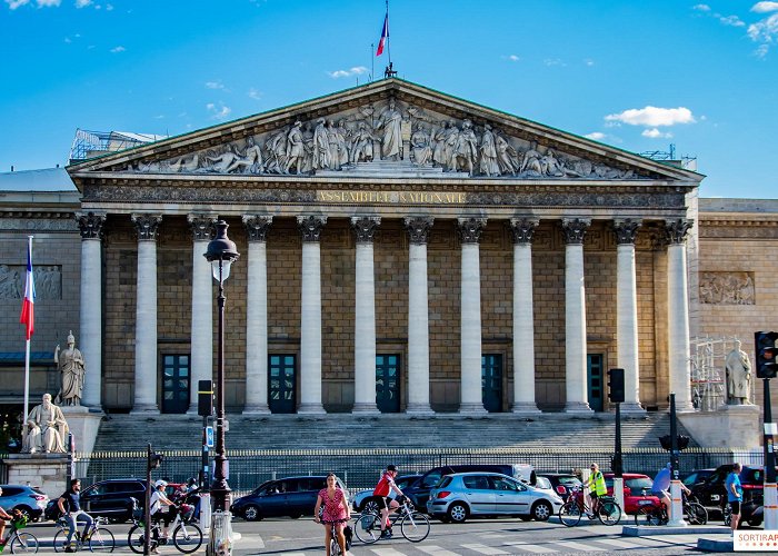
M0 171L381 78L385 0L0 0ZM776 198L778 1L391 0L398 77Z

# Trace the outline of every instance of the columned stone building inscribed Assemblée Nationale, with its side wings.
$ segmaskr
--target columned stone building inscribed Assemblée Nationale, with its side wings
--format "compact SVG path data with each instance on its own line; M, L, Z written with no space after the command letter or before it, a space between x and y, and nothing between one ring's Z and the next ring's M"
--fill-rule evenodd
M3 408L32 235L33 399L72 330L83 405L194 410L223 219L228 413L607 411L612 367L622 410L692 409L695 339L754 359L778 301L778 205L702 178L400 79L7 173Z

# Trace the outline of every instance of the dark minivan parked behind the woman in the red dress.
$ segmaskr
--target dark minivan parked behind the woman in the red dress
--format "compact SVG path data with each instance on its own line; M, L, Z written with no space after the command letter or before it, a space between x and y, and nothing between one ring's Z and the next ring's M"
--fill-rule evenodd
M231 512L247 522L258 522L265 517L312 516L319 490L327 486L326 475L285 477L262 483L251 494L241 496L230 506ZM338 478L338 486L346 485Z

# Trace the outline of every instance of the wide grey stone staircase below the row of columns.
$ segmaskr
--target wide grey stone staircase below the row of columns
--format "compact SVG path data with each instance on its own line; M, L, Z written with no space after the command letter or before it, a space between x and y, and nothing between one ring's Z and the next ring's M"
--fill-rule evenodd
M541 414L526 418L511 414L460 417L438 414L411 417L405 414L357 416L228 415L226 444L229 451L242 449L332 448L530 448L614 449L612 414L568 416ZM660 448L658 437L670 431L669 415L647 413L622 417L622 447ZM678 424L679 434L688 433ZM107 416L94 451L144 449L151 441L163 450L197 450L201 445L202 418L188 415ZM696 446L694 439L692 446Z

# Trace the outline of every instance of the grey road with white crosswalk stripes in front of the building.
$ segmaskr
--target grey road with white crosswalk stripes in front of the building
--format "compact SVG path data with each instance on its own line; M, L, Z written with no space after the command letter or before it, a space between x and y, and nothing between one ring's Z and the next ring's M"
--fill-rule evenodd
M111 525L118 553L132 554L127 547L129 525ZM311 518L265 519L247 523L236 519L233 529L241 534L235 556L265 555L320 556L325 554L323 529ZM34 524L32 530L41 540L42 553L53 553L51 539L56 527ZM707 538L724 539L728 529L720 522L710 526ZM700 535L664 535L654 537L622 537L621 525L606 527L581 523L568 528L552 518L549 523L519 519L478 519L461 525L432 522L430 535L419 544L411 544L400 535L373 545L362 545L355 538L352 556L470 556L512 554L631 554L674 555L704 554L697 550ZM160 547L163 556L180 553L172 546ZM194 554L205 554L203 547Z

